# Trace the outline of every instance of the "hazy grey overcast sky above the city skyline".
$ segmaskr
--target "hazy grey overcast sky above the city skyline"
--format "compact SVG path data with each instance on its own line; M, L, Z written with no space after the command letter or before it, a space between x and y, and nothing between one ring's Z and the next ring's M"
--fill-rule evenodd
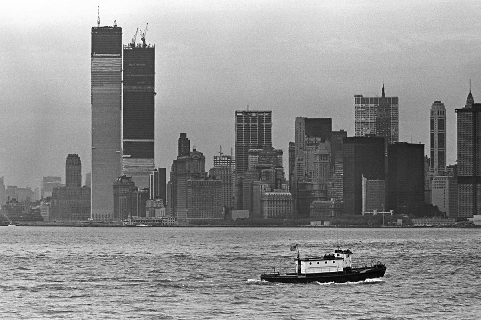
M79 154L91 171L91 28L137 28L155 45L155 163L170 171L177 139L206 157L234 148L235 110L272 110L284 150L296 117L332 118L354 135L354 95L399 97L399 140L424 143L429 109L447 113L447 163L456 115L481 102L478 1L10 2L0 12L0 176L40 186ZM140 37L137 37L140 42Z

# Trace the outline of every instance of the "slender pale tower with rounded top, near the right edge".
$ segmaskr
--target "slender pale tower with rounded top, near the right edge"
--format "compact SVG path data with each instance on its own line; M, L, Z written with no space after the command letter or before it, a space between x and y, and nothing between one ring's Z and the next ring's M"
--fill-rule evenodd
M446 171L446 109L440 101L431 106L431 172L434 175Z

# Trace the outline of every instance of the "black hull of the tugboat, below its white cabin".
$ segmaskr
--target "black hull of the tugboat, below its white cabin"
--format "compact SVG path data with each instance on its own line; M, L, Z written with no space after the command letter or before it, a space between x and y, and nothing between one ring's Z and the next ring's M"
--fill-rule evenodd
M261 274L261 280L282 283L309 283L309 282L357 282L366 279L379 278L384 276L386 266L384 264L372 267L353 269L352 271L336 273L314 273L314 274Z

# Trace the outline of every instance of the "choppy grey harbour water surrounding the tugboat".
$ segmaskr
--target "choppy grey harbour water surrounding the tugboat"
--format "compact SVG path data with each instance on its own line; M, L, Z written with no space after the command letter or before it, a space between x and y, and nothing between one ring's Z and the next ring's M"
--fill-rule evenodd
M259 280L332 251L381 259L355 283ZM481 311L472 228L0 227L0 318L469 319Z

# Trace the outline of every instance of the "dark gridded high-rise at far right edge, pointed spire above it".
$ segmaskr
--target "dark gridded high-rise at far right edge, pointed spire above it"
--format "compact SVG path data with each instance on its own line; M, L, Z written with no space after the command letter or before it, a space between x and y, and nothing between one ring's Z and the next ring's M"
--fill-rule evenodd
M458 218L481 212L481 104L469 90L466 105L457 113L457 204Z

